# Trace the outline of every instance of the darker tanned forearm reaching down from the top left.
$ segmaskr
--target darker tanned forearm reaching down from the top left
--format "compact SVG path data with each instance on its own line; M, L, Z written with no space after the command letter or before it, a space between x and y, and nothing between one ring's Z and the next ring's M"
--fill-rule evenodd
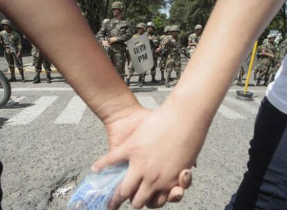
M1 0L0 7L101 120L137 104L94 39L75 1Z

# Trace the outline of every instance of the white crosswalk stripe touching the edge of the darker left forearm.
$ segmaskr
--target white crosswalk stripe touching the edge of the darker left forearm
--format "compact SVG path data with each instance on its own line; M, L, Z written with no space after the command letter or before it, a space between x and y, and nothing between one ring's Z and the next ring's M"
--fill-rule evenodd
M82 120L87 105L80 97L75 96L71 99L67 107L55 120L55 124L77 124Z

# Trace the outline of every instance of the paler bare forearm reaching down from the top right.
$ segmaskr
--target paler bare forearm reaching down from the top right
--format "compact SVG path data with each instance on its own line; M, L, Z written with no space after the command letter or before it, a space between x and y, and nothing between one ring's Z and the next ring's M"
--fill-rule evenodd
M173 107L185 131L195 117L202 128L209 126L248 50L283 3L217 1L193 59L164 104Z

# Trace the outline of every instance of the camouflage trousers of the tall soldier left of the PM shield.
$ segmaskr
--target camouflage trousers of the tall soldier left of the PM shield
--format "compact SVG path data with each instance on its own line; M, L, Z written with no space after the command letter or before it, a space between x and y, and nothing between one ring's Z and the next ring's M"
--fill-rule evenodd
M121 75L123 78L125 75L125 50L121 48L113 48L108 53L112 64L114 64L114 68L116 68L116 71Z

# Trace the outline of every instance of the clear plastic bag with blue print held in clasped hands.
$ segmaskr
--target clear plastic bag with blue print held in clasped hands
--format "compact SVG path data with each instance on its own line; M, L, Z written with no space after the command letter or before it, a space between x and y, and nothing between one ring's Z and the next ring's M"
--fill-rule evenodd
M127 170L128 162L124 162L87 175L71 196L67 209L107 210L107 205Z

